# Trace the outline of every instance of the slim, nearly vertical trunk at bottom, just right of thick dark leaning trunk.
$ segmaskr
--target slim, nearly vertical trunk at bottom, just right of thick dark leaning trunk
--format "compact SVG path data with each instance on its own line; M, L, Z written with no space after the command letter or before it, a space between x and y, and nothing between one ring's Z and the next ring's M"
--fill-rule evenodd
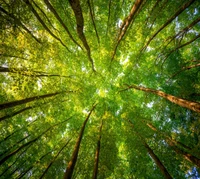
M98 174L98 164L99 164L99 153L100 153L100 147L101 147L101 131L103 126L103 120L101 121L101 126L99 130L99 139L97 141L97 148L95 153L95 162L94 162L94 170L93 170L93 176L92 179L97 179Z

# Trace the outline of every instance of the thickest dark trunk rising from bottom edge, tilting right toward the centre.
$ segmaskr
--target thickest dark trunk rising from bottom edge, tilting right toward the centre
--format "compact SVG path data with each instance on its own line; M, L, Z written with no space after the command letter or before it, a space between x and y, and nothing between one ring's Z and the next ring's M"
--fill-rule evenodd
M78 158L78 152L79 152L81 140L82 140L82 137L83 137L83 133L84 133L84 130L85 130L85 126L86 126L86 123L87 123L92 111L95 109L95 107L96 107L96 105L93 105L92 109L90 110L90 113L88 114L87 118L85 119L85 121L84 121L84 123L81 127L81 131L80 131L78 139L76 141L71 160L69 161L67 168L66 168L66 171L64 173L64 179L71 179L71 177L72 177L74 167L76 165L76 161L77 161L77 158Z

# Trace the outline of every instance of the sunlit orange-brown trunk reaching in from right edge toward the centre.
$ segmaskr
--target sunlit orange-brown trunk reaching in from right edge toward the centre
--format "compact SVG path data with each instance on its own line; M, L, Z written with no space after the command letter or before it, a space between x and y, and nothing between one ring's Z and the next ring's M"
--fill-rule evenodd
M200 113L200 103L198 103L198 102L188 101L188 100L178 98L176 96L164 93L160 90L154 90L151 88L145 88L145 87L141 87L141 86L131 85L127 89L130 89L130 88L134 88L136 90L141 90L141 91L144 91L147 93L153 93L153 94L161 96L162 98L165 98L179 106L182 106L184 108L187 108L187 109L190 109L190 110Z

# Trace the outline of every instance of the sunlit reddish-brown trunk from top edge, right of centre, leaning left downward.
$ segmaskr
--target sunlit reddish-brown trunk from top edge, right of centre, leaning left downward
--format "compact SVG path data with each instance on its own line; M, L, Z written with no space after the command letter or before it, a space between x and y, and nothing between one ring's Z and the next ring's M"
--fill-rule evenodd
M111 59L111 62L113 61L114 57L115 57L115 54L117 52L117 47L119 46L122 38L124 37L129 25L131 24L134 16L136 15L136 13L138 12L138 9L140 8L140 6L142 5L142 2L143 0L136 0L136 2L134 3L134 5L132 6L132 9L131 9L131 12L129 14L128 17L125 18L125 20L123 21L121 27L120 27L120 31L119 31L119 36L118 36L118 39L117 39L117 44L115 46L115 49L114 49L114 53L113 53L113 56L112 56L112 59Z

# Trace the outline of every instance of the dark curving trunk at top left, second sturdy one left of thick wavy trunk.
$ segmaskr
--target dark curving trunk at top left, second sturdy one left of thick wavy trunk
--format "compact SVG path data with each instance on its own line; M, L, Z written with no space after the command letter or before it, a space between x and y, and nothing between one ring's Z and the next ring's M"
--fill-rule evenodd
M30 3L29 0L25 0L25 3L27 4L27 6L29 6L30 10L32 11L32 13L35 15L35 17L37 18L37 20L41 23L41 25L44 27L44 29L56 40L58 40L69 52L70 50L68 49L68 47L62 42L62 40L60 38L58 38L53 32L51 32L51 30L47 27L47 25L44 23L44 21L41 19L41 17L39 16L39 14L37 13L37 11L33 8L32 4Z

